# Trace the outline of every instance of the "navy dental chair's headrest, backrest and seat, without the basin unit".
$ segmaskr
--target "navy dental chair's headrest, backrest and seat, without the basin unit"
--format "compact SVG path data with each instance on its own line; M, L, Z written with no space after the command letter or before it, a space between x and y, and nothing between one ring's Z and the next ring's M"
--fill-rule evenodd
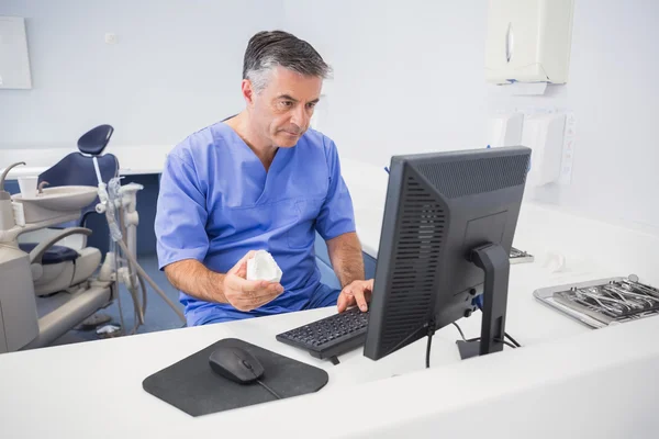
M101 156L112 137L114 128L100 125L78 139L80 153L71 153L38 177L40 188L63 185L98 185L93 165L97 157L103 182L119 175L119 161L112 154ZM60 228L46 228L25 234L19 244L21 250L30 254L34 291L36 295L49 295L65 291L89 279L101 262L98 248L87 247L91 235L85 228L87 215L96 213L98 196L82 209L76 222L62 224ZM67 227L67 228L63 228ZM38 243L35 241L38 239ZM77 238L77 239L75 239ZM59 245L56 245L59 244Z

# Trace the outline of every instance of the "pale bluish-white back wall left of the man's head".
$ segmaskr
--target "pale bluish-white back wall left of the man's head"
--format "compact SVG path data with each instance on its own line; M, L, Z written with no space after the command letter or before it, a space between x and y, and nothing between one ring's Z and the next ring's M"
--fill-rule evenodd
M0 148L75 145L101 123L116 145L176 144L242 110L247 40L283 19L261 0L1 0L0 15L26 18L33 78L0 90Z

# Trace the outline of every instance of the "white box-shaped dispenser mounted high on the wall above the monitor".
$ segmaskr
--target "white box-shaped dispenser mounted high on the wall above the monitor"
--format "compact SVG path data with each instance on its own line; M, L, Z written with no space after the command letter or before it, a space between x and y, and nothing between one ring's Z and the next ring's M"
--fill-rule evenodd
M490 0L488 82L568 80L574 0Z

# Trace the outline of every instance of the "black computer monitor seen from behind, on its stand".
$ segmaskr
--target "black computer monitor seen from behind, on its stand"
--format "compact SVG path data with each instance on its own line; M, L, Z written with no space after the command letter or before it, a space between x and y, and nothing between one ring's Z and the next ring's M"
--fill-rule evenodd
M530 149L395 156L364 354L381 359L477 309L480 342L468 358L503 349L511 251Z

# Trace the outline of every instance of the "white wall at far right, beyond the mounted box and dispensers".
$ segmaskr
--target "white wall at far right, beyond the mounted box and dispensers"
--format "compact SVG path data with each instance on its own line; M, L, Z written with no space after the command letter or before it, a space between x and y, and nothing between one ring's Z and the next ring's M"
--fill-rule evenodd
M577 0L570 80L548 98L491 108L557 105L577 119L572 183L545 199L659 233L659 2Z

